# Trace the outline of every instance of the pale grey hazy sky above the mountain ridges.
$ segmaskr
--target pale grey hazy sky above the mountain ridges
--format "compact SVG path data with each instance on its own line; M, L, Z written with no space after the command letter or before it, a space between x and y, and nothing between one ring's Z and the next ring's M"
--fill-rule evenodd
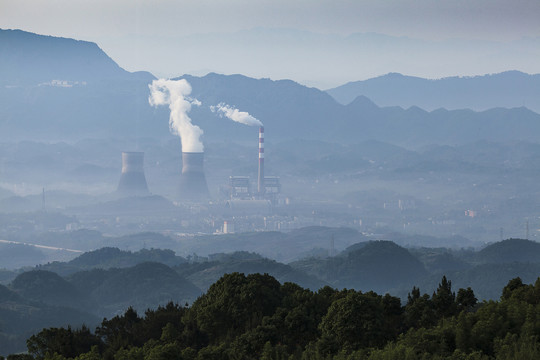
M0 0L0 28L94 41L129 71L321 88L388 72L540 73L538 19L538 0Z

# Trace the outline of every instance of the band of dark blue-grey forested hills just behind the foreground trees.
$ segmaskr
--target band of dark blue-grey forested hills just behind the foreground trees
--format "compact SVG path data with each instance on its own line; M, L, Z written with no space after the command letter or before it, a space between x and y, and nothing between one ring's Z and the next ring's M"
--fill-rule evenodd
M286 239L303 238L302 234L315 230L297 231ZM354 232L343 231L342 236L354 236ZM257 239L254 234L249 238ZM330 286L363 293L389 292L402 300L414 286L428 294L436 292L445 275L456 288L473 288L477 299L495 300L512 278L520 277L527 283L536 280L540 263L534 259L538 253L538 244L516 239L494 243L481 251L406 249L390 241L364 241L333 257L319 254L318 258L283 264L245 251L186 259L170 250L103 248L67 263L21 271L6 282L7 287L0 286L0 314L11 319L10 326L0 328L0 350L21 350L26 334L42 327L68 322L74 327L95 324L97 318L115 316L129 306L142 314L169 301L192 303L224 274L235 272L266 273L281 284L293 282L314 292ZM513 262L493 262L504 260L504 254L512 255ZM306 306L308 311L312 305ZM78 310L81 308L84 312Z

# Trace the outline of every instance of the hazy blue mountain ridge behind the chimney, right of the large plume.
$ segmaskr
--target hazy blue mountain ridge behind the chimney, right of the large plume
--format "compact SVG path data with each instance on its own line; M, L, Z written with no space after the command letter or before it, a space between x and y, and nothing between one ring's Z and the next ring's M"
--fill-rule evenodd
M365 98L340 105L319 90L292 81L217 74L182 78L192 84L193 96L204 104L224 101L259 118L265 124L268 141L301 138L355 143L373 139L415 146L463 144L480 139L539 140L530 129L540 128L540 115L523 107L427 112L418 107L379 108ZM201 121L209 138L254 136L254 130L230 124L205 107L194 109L193 118Z

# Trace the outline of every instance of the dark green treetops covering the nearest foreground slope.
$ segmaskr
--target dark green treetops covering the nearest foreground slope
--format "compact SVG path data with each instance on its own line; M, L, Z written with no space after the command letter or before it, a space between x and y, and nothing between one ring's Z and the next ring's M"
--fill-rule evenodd
M191 307L144 316L129 308L95 332L49 328L27 341L35 360L124 359L538 359L540 278L511 280L499 301L477 303L446 277L404 306L391 295L281 285L232 273ZM24 357L21 357L24 356ZM12 357L16 359L18 357Z

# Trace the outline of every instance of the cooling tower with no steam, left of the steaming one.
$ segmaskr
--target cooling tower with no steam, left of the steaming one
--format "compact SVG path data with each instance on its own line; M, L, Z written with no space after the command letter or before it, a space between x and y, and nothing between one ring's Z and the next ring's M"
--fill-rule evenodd
M117 192L127 196L150 194L144 176L143 152L122 152L122 175Z

